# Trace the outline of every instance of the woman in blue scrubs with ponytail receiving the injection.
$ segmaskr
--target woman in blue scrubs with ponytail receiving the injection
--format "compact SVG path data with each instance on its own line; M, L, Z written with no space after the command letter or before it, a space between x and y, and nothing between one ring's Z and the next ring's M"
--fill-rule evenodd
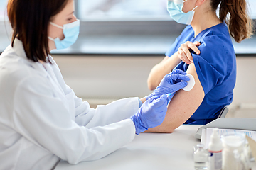
M245 0L168 0L167 6L174 21L188 26L151 69L149 89L175 69L192 74L196 84L175 94L164 122L149 132L173 132L183 123L206 124L218 118L233 101L236 61L230 35L241 42L252 34Z

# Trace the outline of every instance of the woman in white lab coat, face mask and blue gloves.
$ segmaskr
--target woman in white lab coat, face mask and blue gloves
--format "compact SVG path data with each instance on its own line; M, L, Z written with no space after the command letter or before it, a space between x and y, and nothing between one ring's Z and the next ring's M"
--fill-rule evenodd
M189 80L178 70L146 98L90 108L49 55L78 38L73 0L9 0L7 13L14 33L0 56L0 169L53 169L60 159L105 157L160 125L167 103Z

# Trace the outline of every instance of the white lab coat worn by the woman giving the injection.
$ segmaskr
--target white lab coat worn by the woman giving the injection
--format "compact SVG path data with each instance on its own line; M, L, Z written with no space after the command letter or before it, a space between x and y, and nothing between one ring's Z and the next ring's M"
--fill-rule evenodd
M28 60L18 39L0 56L0 169L100 159L134 139L138 98L90 108L50 61Z

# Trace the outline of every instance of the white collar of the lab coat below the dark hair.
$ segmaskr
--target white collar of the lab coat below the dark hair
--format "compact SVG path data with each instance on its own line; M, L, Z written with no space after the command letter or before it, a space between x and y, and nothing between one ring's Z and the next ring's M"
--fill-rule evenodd
M43 67L43 64L41 64L40 62L34 62L32 60L28 60L28 57L26 56L26 52L24 50L23 44L22 44L21 40L18 40L18 38L15 38L15 40L14 40L13 50L18 57L21 57L21 58L23 58L23 60L26 60L27 63L31 67L33 67L34 69L41 72L41 74L43 74L43 76L47 77L48 74L46 72L45 67Z

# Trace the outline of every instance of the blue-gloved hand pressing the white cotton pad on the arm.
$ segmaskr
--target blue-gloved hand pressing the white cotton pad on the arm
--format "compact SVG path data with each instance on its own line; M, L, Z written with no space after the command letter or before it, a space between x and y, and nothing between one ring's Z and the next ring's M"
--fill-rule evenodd
M181 80L183 80L181 82ZM161 80L159 86L153 91L153 93L146 96L146 100L153 96L161 96L162 94L171 94L167 98L167 102L171 101L171 98L174 96L175 92L184 88L188 85L186 81L189 81L189 77L186 76L186 72L183 72L181 69L176 69L173 72L166 74Z

